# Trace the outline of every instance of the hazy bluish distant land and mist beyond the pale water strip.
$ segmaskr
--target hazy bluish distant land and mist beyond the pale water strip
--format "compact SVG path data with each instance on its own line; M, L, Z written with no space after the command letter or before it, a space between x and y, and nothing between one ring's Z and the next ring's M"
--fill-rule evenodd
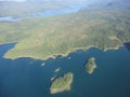
M0 16L22 16L46 10L84 4L87 9L127 9L130 0L0 0Z

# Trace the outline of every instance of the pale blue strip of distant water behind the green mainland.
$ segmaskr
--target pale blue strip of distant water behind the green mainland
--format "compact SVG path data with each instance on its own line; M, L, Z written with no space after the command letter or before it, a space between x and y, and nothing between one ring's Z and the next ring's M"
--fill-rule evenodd
M67 14L67 13L76 13L80 9L86 8L86 6L87 4L74 4L74 5L70 5L69 8L63 8L63 9L57 9L57 10L47 10L47 11L27 14L24 17L14 18L12 16L5 16L5 17L0 17L0 22L18 22L25 18L30 18L30 17L48 17L48 16L62 15L62 14Z

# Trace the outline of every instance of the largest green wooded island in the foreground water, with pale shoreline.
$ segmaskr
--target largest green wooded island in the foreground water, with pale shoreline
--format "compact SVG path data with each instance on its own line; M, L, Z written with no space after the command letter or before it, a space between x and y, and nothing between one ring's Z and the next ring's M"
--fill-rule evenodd
M50 87L51 94L69 91L70 85L73 83L73 78L74 78L74 74L72 72L68 72L68 73L64 74L63 77L60 77L60 78L55 79L54 81L52 81L52 84Z

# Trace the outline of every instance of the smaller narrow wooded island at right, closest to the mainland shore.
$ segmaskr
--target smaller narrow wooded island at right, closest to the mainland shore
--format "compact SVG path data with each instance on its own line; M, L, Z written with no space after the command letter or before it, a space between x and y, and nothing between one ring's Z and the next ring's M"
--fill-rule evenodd
M94 57L91 57L89 58L87 65L86 65L86 70L89 74L92 74L94 69L96 68L96 64L95 64L95 58Z

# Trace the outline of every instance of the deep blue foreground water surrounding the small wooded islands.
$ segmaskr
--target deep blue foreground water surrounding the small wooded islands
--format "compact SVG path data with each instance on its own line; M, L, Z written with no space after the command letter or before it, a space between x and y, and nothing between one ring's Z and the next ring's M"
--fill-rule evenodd
M0 97L130 97L130 51L126 47L107 52L93 47L44 61L2 58L13 46L0 46ZM98 65L91 75L84 70L90 57L95 57ZM61 68L57 73L54 72L56 68ZM74 73L72 89L51 95L50 79L68 71Z

